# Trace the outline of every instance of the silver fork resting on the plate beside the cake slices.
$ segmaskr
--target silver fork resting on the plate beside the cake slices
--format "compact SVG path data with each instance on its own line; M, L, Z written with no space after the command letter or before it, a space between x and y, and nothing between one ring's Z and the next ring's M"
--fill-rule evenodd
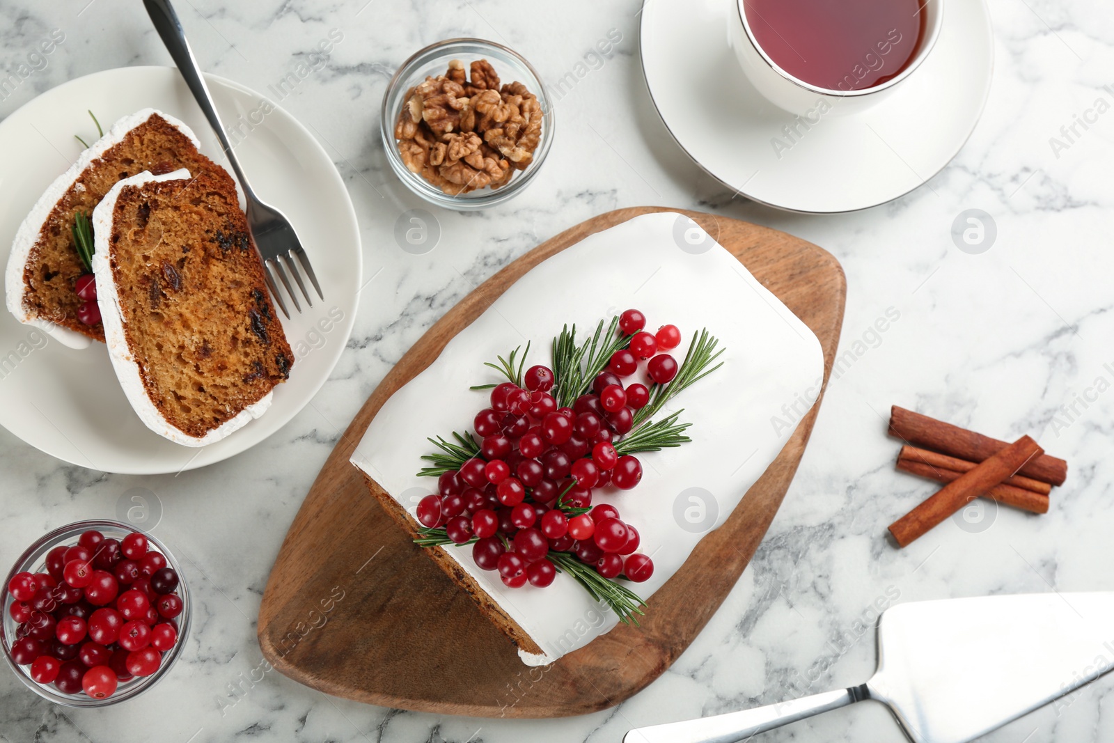
M305 255L305 250L302 248L302 243L297 239L297 233L294 232L294 227L291 226L286 215L260 199L247 183L247 176L244 175L243 169L240 167L240 160L236 158L236 154L232 149L232 144L224 134L221 116L216 113L216 106L213 105L213 97L209 95L208 86L205 85L205 78L202 77L201 68L197 67L194 52L189 48L189 42L186 41L186 32L182 29L178 14L174 12L174 7L170 6L169 0L144 0L144 6L147 8L147 14L150 16L150 20L155 23L155 30L162 37L167 51L170 52L174 63L178 66L178 71L185 78L186 86L194 94L194 98L197 99L197 105L201 106L202 113L208 119L209 126L216 131L217 139L221 140L221 147L224 149L228 163L232 164L232 169L236 172L236 178L240 180L240 185L244 189L244 196L247 199L247 225L252 231L252 237L255 241L255 247L258 250L260 257L263 260L263 273L267 280L267 286L271 287L271 295L274 296L275 302L278 303L278 307L289 319L290 312L286 311L286 303L283 302L282 294L278 293L278 286L275 283L275 276L277 275L278 281L286 287L286 293L290 295L291 302L294 303L294 309L302 312L302 305L297 302L297 295L294 293L294 289L290 283L290 276L286 273L289 268L297 287L302 290L302 295L305 297L306 304L312 307L313 300L310 297L310 293L305 289L305 283L302 281L303 273L310 280L310 283L313 284L313 289L317 291L317 296L324 300L325 295L321 293L321 284L317 283L317 277L313 273L310 258Z

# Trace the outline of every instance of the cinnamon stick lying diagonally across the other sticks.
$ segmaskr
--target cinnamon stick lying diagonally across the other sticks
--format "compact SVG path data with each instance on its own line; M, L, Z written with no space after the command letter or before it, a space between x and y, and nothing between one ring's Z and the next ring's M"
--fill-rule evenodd
M898 546L906 547L958 511L971 498L1016 473L1026 462L1044 453L1036 441L1027 436L980 462L969 472L944 486L932 497L890 525L890 534Z

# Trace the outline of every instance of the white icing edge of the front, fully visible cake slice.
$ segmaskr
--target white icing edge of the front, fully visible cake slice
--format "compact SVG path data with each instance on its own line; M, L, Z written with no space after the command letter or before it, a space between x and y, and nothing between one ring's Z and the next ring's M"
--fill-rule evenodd
M113 277L111 262L109 261L111 246L109 237L113 234L113 211L116 207L116 199L126 186L143 186L147 183L163 180L182 180L183 186L189 182L189 170L180 168L174 173L165 175L152 175L145 170L139 175L120 180L105 195L97 208L92 211L92 235L96 252L92 254L92 273L97 278L97 305L100 307L100 319L105 325L105 344L108 346L108 355L113 360L113 368L124 388L124 394L135 409L139 419L159 436L163 436L175 443L187 447L204 447L215 443L227 437L233 431L243 428L250 421L258 418L271 407L272 392L267 392L258 402L247 405L234 418L228 419L219 427L207 432L204 437L194 437L185 433L173 426L163 413L159 412L155 403L147 395L139 372L139 364L131 350L128 348L127 336L124 333L124 311L120 306L120 296L116 290L116 282Z

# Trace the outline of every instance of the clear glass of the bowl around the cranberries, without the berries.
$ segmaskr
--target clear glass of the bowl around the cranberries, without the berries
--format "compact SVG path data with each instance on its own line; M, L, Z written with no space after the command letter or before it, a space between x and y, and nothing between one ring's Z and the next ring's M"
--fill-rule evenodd
M159 666L158 671L149 676L136 676L130 681L121 681L119 686L117 686L115 694L104 700L95 700L84 693L63 694L58 691L58 687L53 684L40 684L31 678L31 666L21 666L16 663L16 661L11 657L11 644L16 639L16 629L18 625L16 624L16 620L11 618L11 612L9 610L16 599L8 593L8 584L11 583L12 577L17 573L22 573L25 570L29 573L46 573L47 553L58 545L76 545L78 537L81 536L81 532L88 531L89 529L96 529L105 535L105 537L111 537L114 539L123 539L128 534L136 531L135 528L119 521L77 521L76 524L70 524L55 529L53 531L42 536L33 545L28 547L27 551L19 556L19 559L16 560L16 565L12 567L11 571L8 573L8 577L4 578L3 586L0 586L0 590L3 590L4 596L3 625L0 627L0 646L3 646L4 659L8 662L8 665L11 666L12 671L16 672L16 675L19 676L31 691L45 700L50 700L56 704L61 704L68 707L104 707L143 694L145 691L158 683L159 678L167 674L170 666L173 666L175 661L178 659L178 655L182 654L182 647L185 645L186 638L189 636L190 605L189 589L186 586L186 577L182 573L177 558L175 558L170 550L166 548L166 545L152 535L144 532L144 536L147 537L147 541L166 558L167 567L174 568L174 570L178 574L178 587L175 589L175 593L182 597L182 614L175 617L175 622L178 623L178 642L175 643L172 649L163 654L163 664Z

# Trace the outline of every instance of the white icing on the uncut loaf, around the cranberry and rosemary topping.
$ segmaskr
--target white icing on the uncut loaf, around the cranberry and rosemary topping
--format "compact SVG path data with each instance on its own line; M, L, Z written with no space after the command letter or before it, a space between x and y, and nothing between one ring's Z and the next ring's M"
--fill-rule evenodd
M600 317L628 307L646 314L648 330L666 323L681 329L685 340L672 352L678 363L693 333L707 327L725 349L723 366L665 411L684 408L682 420L693 423L687 431L692 442L638 454L643 479L635 489L594 492L594 505L613 504L638 529L638 551L653 558L654 575L646 583L626 585L653 610L654 592L713 528L702 530L702 498L690 500L697 493L685 491L701 488L711 493L706 506L717 510L714 527L722 525L789 440L819 395L823 375L823 354L812 331L734 256L694 229L695 223L678 214L645 215L586 237L535 267L387 401L352 463L413 516L421 496L437 491L433 478L414 475L421 454L430 450L426 437L471 432L472 419L488 407L488 399L468 388L500 381L483 362L506 358L530 340L527 366L551 365L549 342L564 323L575 322L583 340ZM711 247L694 254L678 247L682 244L688 250ZM774 417L782 423L774 426ZM618 623L568 575L558 574L547 588L507 588L498 573L476 566L470 546L443 549L545 651L519 651L527 665L550 663Z

